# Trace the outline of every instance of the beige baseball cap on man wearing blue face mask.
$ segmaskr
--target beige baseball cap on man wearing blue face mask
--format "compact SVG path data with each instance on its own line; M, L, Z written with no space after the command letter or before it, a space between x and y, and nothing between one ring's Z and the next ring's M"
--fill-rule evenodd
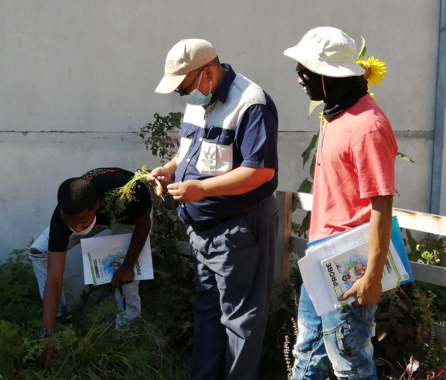
M166 58L164 77L155 92L167 94L177 89L187 73L217 57L214 46L206 40L181 40L170 49Z

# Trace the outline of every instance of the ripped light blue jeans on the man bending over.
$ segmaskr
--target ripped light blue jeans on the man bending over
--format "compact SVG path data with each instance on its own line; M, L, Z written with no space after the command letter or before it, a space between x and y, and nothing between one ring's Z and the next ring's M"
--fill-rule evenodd
M68 244L67 251L70 251L71 248L80 243L80 239L91 238L99 232L110 229L109 226L96 226L93 228L89 234L85 236L79 236L76 233L73 233L70 236L70 243ZM133 232L135 226L132 224L124 224L124 223L116 223L113 226L113 234L126 234ZM29 258L33 262L34 273L36 274L37 283L39 285L40 296L43 299L43 291L45 289L45 282L47 276L48 269L48 236L50 233L50 227L47 227L45 231L34 241L33 245L30 247L30 250L37 250L39 254L29 254ZM34 251L35 252L35 251ZM141 313L141 300L138 294L138 286L139 280L134 280L131 283L124 284L122 286L122 291L124 295L120 294L120 291L116 289L115 291L115 299L118 304L118 309L121 311L116 316L116 328L119 328L124 321L128 321L130 319L135 318L137 315ZM124 298L125 298L125 310L124 310ZM60 317L62 315L67 314L67 304L65 292L62 289L61 300L59 303L59 308L57 312L57 316Z

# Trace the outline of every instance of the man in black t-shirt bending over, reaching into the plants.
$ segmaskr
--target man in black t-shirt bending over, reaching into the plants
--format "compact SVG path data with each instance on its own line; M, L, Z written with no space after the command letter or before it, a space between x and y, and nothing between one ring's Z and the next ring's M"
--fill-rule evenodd
M66 252L82 238L89 238L111 228L110 217L101 213L101 200L109 191L124 186L133 173L120 168L90 170L81 177L69 178L59 186L58 204L50 226L36 239L30 248L40 295L43 299L42 326L39 336L54 335L56 317L67 313L66 298L62 290ZM112 284L116 288L116 301L122 311L116 318L116 327L124 320L140 314L138 295L139 280L135 280L133 267L149 235L152 210L150 192L143 184L137 184L135 198L117 215L113 224L114 234L132 232L124 262L116 269ZM124 310L125 299L125 310ZM41 364L48 368L54 348L47 345L41 356Z

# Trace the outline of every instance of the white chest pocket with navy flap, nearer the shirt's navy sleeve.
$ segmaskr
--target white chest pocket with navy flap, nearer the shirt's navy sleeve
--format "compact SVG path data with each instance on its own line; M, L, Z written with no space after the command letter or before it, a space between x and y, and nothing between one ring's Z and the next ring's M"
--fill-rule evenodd
M206 129L197 160L201 174L221 175L232 170L235 131L232 129Z

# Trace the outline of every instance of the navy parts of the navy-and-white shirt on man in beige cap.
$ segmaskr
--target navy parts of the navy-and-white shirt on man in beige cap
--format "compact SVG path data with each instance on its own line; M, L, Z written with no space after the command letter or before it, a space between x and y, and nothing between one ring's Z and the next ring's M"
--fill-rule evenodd
M216 101L225 103L235 72L230 65L223 64L227 69ZM197 162L202 149L202 143L207 141L230 146L232 144L232 169L240 166L250 168L274 169L271 181L254 190L240 195L206 197L198 202L178 202L180 219L196 229L205 229L222 219L238 215L244 210L263 201L277 189L277 109L271 97L264 92L266 104L253 104L244 112L239 125L233 129L223 129L221 126L207 125L206 128L192 123L183 122L179 135L191 139L190 147L181 162L177 162L175 181L184 182L189 179L203 180L215 177L202 174L197 169ZM180 148L181 149L181 148ZM223 174L224 175L224 174Z

